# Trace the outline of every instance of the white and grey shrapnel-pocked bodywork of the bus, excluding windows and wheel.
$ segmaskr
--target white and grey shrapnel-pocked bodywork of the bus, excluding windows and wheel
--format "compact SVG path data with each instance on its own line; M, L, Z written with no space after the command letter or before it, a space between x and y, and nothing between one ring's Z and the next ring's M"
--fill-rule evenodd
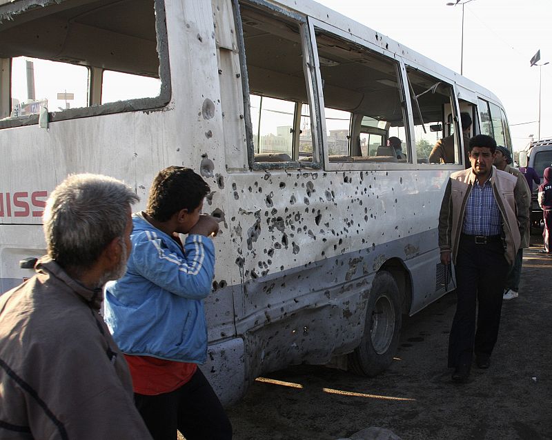
M0 16L18 3L27 4L0 6ZM296 3L251 4L305 23L314 19L300 30L305 45L315 41L308 36L312 23L326 23L398 60L403 80L408 63L446 79L474 106L481 96L500 105L490 92L379 32L313 1ZM98 115L84 109L82 117L56 120L48 130L36 124L0 130L0 292L32 275L19 268L20 260L46 252L41 212L67 174L122 179L135 188L141 198L135 210L141 210L155 174L170 165L204 177L211 188L204 212L221 220L213 292L205 301L210 343L202 370L224 403L238 399L263 372L328 363L353 351L378 272L393 274L404 314L454 287L442 278L437 223L449 175L462 166L331 162L320 144L327 142L319 131L325 121L315 101L315 163L253 165L242 82L248 72L233 2L166 0L164 7L168 37L158 47L170 64L165 106ZM306 77L314 77L306 86L311 99L324 95L317 63L303 66ZM406 110L409 122L417 117L410 103Z

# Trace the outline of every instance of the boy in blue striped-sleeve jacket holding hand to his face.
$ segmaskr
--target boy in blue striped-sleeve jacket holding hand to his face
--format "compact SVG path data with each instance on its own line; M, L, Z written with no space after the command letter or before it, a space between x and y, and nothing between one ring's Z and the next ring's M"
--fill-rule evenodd
M232 438L198 363L207 356L203 299L215 272L217 220L201 215L210 188L184 167L155 177L146 211L132 216L124 277L106 286L105 319L124 352L136 406L155 440ZM178 234L188 234L184 246Z

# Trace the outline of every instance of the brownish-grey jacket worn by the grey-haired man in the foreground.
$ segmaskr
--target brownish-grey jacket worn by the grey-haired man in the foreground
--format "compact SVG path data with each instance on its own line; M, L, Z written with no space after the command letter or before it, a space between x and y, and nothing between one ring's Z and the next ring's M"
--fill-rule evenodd
M0 438L151 439L101 289L48 257L37 272L0 296Z

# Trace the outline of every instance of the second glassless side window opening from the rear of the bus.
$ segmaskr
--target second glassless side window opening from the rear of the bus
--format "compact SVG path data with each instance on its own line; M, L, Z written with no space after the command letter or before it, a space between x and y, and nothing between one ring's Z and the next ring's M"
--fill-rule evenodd
M326 30L315 34L328 161L411 162L399 63ZM377 154L389 137L399 138L402 150Z

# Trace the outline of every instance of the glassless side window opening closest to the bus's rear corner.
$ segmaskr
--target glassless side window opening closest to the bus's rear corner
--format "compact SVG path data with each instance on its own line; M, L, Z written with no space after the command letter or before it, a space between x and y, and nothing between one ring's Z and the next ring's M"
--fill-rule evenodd
M311 111L303 68L304 24L241 3L255 163L313 161Z

